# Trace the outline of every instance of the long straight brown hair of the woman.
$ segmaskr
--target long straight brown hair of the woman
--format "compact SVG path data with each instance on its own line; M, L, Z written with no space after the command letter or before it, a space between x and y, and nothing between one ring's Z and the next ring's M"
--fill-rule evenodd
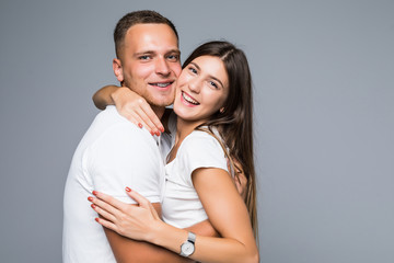
M236 160L246 179L246 207L257 239L256 174L253 158L253 102L252 77L245 54L228 42L208 42L197 47L183 65L185 68L195 58L213 56L220 58L229 78L229 95L223 111L215 113L208 122L197 127L216 127L229 149L229 157ZM239 180L235 173L235 180Z

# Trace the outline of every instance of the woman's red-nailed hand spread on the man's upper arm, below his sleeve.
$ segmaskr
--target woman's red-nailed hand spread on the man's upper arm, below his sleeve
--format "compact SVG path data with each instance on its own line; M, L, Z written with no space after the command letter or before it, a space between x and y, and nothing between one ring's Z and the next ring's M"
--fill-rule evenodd
M92 208L101 216L95 220L124 237L149 241L148 235L154 235L153 230L162 221L147 198L129 187L126 187L126 192L138 205L125 204L109 195L93 191L95 197L90 196L88 199L93 203Z

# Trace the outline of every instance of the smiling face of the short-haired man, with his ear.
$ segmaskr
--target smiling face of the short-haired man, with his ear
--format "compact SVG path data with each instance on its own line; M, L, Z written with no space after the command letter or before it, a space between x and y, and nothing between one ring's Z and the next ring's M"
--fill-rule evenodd
M136 24L125 36L119 59L114 59L117 79L152 106L173 103L181 73L177 38L166 24Z

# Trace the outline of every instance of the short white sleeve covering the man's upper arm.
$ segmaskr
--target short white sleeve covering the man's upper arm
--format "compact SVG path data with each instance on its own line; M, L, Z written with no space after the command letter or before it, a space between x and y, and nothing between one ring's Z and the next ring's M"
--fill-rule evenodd
M163 164L159 148L149 133L132 124L108 128L90 148L88 169L94 190L135 204L125 187L159 203Z

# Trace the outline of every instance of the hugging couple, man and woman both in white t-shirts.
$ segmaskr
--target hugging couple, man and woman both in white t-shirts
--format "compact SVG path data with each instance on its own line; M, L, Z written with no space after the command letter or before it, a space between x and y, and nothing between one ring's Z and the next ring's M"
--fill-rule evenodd
M209 42L181 67L154 11L126 14L114 39L121 87L94 95L105 110L72 158L63 262L258 262L244 53Z

